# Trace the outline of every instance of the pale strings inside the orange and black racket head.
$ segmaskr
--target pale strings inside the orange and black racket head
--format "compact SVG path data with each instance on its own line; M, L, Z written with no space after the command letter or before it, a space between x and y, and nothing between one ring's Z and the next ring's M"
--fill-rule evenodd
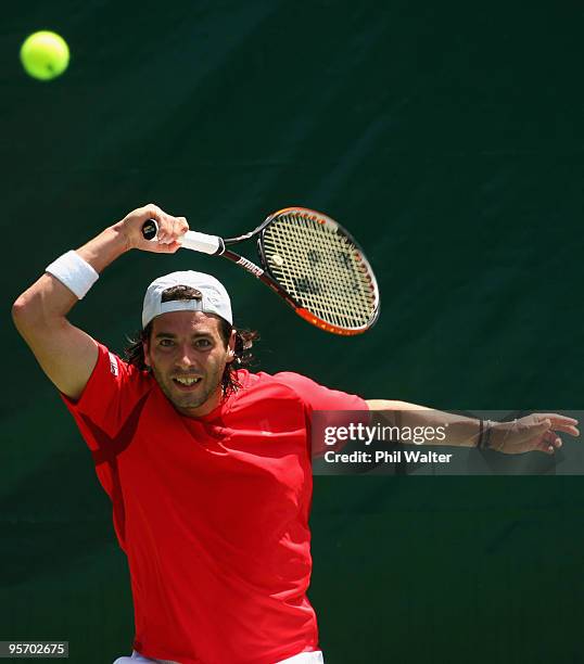
M263 245L272 276L302 307L341 328L370 322L377 306L374 278L334 222L288 213L265 229Z

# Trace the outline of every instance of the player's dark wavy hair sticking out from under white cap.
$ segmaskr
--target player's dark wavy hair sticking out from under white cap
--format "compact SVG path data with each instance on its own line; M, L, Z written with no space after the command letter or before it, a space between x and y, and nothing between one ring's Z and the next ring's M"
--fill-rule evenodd
M166 289L162 294L162 302L170 302L175 299L199 299L201 294L189 286L178 285ZM224 318L219 318L219 334L227 348L233 327ZM128 363L137 367L140 370L149 370L144 361L144 342L150 342L152 332L152 321L145 328L139 330L132 337L128 337L129 345L124 349L124 355ZM255 330L236 330L236 347L233 361L225 366L225 371L221 376L221 386L224 396L228 396L237 392L241 384L237 379L237 370L243 367L249 367L254 361L252 346L259 339L259 334Z

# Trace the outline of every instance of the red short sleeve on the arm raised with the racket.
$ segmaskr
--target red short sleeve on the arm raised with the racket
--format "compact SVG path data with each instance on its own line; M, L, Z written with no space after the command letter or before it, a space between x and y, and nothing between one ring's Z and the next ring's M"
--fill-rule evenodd
M123 361L104 345L98 346L98 361L79 399L75 401L61 394L90 448L94 446L88 435L88 423L115 436L152 386L145 372Z

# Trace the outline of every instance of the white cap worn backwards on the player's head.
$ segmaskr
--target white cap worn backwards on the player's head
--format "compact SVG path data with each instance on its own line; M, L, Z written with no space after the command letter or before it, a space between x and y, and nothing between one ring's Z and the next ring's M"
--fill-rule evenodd
M199 291L201 297L195 299L172 299L162 302L163 291L177 285L185 285ZM147 289L142 308L142 327L167 311L204 311L216 314L233 324L231 301L220 281L203 272L172 272L155 279Z

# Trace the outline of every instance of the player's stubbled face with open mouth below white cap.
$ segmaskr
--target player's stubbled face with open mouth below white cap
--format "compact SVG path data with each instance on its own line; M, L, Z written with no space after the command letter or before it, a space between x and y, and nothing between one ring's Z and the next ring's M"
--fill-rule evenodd
M213 314L168 311L152 321L144 361L182 414L201 417L221 399L221 376L233 359L234 332L226 347Z

